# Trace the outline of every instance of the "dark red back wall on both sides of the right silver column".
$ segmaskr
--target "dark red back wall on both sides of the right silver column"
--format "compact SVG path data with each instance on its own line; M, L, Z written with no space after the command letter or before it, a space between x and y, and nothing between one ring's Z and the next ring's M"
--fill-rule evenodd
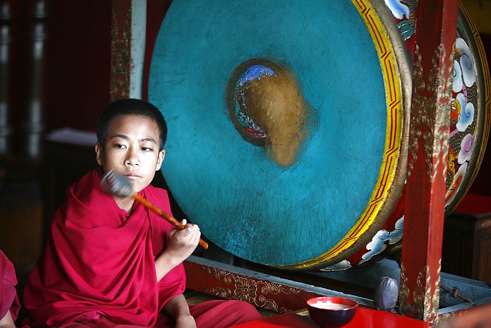
M12 8L10 118L16 131L26 119L31 79L33 0ZM109 102L110 0L47 0L43 121L46 131L70 126L95 131Z

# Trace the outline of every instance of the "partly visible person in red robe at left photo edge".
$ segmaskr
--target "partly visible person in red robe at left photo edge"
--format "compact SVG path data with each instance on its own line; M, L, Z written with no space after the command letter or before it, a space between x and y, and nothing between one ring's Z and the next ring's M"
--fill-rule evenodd
M14 322L21 308L16 285L14 265L0 250L0 328L15 327Z

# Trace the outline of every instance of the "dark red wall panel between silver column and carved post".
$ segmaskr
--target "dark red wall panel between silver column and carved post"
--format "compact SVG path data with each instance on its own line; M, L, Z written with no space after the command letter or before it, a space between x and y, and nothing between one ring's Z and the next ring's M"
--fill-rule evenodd
M111 1L51 0L47 20L47 128L95 131L109 102Z

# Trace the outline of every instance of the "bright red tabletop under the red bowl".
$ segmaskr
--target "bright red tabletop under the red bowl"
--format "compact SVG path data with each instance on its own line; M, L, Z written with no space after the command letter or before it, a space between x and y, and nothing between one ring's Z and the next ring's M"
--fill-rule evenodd
M380 328L380 327L411 327L426 328L433 324L404 317L395 313L379 311L366 307L359 307L355 317L344 328ZM300 316L295 313L283 313L233 326L234 328L262 328L262 327L320 327L309 316Z

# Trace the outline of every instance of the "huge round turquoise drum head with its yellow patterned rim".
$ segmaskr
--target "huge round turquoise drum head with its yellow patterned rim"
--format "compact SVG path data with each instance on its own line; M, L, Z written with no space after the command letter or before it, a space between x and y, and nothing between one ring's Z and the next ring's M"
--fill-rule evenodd
M402 234L411 74L382 0L174 0L149 78L166 183L204 236L246 260L370 260L375 237Z

